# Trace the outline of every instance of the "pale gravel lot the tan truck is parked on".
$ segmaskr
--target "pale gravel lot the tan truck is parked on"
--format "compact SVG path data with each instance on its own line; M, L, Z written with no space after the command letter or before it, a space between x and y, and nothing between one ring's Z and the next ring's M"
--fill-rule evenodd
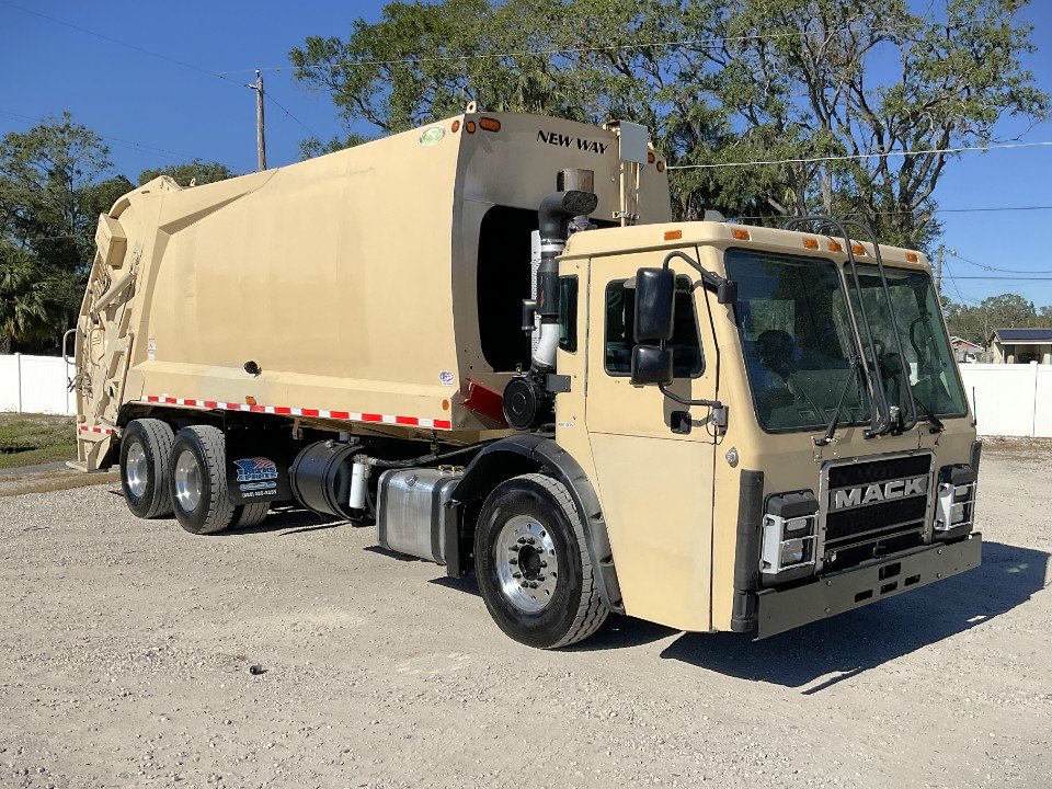
M556 653L370 530L0 498L0 786L1044 787L1052 451L983 471L976 571L759 643L611 619Z

